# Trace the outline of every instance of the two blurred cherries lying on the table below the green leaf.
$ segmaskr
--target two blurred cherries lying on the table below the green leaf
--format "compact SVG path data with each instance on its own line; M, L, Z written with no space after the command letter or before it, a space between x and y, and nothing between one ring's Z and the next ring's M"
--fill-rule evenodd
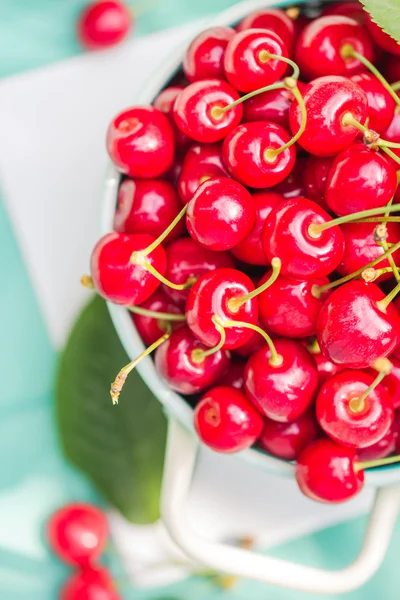
M60 600L120 600L108 570L97 564L108 537L105 515L90 504L68 504L47 525L54 553L77 568L63 586Z

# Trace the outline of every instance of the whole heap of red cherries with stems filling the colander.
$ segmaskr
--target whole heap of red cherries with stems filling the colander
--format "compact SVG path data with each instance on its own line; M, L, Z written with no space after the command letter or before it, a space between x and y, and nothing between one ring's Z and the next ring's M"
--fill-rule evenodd
M296 461L324 502L399 458L399 56L358 2L260 10L107 133L123 177L84 283L148 345L114 403L155 351L202 442Z

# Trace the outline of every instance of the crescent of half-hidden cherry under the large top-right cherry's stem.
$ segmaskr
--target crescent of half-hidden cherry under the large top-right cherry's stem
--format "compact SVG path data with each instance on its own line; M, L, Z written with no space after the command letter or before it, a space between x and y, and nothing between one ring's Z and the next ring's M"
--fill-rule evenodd
M397 59L398 60L398 59ZM368 100L368 127L378 133L389 127L396 103L382 83L371 73L353 75L354 81L365 92Z

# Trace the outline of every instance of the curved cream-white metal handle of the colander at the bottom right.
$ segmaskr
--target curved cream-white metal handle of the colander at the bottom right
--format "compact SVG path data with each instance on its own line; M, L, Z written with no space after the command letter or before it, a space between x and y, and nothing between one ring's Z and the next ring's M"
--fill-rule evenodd
M380 488L358 557L339 571L302 566L203 539L188 524L186 504L198 451L196 437L169 420L161 514L175 543L197 564L222 573L320 594L339 594L365 583L382 563L400 505L400 485Z

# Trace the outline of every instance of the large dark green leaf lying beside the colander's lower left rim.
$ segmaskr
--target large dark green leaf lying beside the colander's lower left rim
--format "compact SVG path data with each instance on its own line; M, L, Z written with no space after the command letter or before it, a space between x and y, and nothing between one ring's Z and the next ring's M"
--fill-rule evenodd
M95 297L61 357L57 422L66 457L127 519L151 523L159 517L166 418L136 372L112 406L110 383L127 362L107 307Z

